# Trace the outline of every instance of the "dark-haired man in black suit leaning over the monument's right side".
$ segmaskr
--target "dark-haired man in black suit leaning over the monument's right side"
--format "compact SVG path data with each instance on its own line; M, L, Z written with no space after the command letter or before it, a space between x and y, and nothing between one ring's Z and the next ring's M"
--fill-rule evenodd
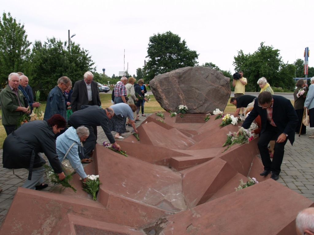
M261 117L262 130L257 146L264 165L264 171L260 175L268 175L272 172L270 178L278 180L284 158L284 145L288 139L291 145L293 144L295 127L299 119L290 100L281 96L272 96L268 91L260 93L258 99L255 99L253 110L243 122L242 127L248 129L258 115ZM273 139L276 143L273 161L271 161L267 146Z

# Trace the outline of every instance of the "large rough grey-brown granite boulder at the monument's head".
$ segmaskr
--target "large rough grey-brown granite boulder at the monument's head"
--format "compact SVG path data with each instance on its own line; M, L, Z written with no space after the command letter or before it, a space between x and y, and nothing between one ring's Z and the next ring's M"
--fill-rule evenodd
M223 111L231 93L230 78L204 66L160 74L149 85L161 107L172 112L179 105L186 105L187 113L212 113L216 108Z

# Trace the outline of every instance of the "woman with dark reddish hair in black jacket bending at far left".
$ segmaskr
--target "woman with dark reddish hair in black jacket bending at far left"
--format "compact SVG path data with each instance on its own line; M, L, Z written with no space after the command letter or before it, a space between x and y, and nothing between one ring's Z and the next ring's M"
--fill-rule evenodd
M43 184L46 161L41 153L45 153L51 167L59 179L65 178L56 152L56 137L66 127L64 118L55 114L45 121L35 120L23 123L17 130L5 138L3 142L3 167L9 169L29 169L28 179L22 187L40 190L48 185Z

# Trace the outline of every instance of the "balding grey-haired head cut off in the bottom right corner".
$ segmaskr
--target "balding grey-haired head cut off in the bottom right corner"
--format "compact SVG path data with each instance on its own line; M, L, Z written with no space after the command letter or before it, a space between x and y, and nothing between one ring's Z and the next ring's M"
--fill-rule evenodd
M295 219L295 227L298 235L314 235L314 207L299 212Z

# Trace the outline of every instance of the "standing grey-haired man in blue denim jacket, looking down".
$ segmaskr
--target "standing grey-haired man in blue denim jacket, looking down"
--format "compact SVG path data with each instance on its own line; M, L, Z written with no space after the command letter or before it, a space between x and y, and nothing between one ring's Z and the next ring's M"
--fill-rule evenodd
M44 121L47 121L54 114L60 114L67 121L67 109L64 91L67 90L68 87L70 87L71 85L72 85L71 80L66 76L60 77L58 79L58 85L52 88L51 91L49 92L46 103ZM61 131L60 134L57 134L56 136L61 135L65 131L66 128L64 128L64 130Z

